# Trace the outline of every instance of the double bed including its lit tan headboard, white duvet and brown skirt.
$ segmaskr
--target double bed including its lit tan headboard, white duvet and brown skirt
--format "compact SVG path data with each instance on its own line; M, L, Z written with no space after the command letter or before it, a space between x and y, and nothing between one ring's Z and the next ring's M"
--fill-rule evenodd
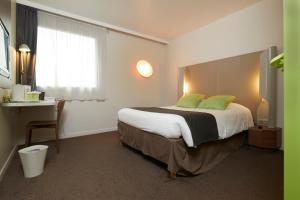
M179 86L189 83L191 93L236 96L235 103L231 103L225 111L176 106L162 108L210 113L217 122L218 137L215 140L195 144L185 120L173 112L124 108L118 113L121 142L165 163L171 176L207 172L238 150L244 143L248 128L253 126L261 100L258 91L259 62L260 52L254 52L179 70ZM179 87L179 91L183 88Z

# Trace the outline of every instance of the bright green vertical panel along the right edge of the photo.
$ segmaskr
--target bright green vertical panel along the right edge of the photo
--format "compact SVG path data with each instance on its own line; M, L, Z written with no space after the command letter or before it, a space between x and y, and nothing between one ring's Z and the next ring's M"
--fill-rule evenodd
M284 0L284 199L300 199L300 0Z

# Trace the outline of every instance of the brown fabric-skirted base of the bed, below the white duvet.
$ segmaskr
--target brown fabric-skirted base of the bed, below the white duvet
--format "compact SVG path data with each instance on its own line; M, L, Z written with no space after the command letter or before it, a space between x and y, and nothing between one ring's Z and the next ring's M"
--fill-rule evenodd
M193 148L186 146L182 138L168 139L120 121L118 130L122 143L167 164L171 178L194 176L212 169L242 147L245 138L243 132Z

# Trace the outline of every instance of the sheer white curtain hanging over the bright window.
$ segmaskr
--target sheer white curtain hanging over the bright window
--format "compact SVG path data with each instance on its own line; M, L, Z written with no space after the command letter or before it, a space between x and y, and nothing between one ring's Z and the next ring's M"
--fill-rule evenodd
M36 84L66 100L104 99L106 29L38 12Z

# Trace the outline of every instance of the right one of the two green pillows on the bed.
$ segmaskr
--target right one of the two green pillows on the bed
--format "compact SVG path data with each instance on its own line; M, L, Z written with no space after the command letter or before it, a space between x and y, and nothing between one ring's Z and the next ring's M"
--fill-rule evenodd
M234 99L235 96L229 95L211 96L201 101L198 108L225 110Z

